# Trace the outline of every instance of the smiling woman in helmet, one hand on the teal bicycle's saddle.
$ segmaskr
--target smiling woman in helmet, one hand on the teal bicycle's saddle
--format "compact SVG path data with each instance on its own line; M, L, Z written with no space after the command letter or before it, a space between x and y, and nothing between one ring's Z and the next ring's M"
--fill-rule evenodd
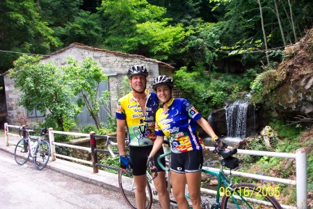
M162 146L164 136L168 137L172 150L170 178L178 208L189 208L185 197L186 183L193 208L201 208L200 184L204 144L195 130L196 123L212 137L212 141L220 140L209 123L202 118L188 100L172 97L173 86L172 79L165 75L154 79L152 88L157 92L163 107L156 114L155 134L157 139L154 141L147 164L152 165L150 168L154 169L154 155ZM218 143L218 146L222 147L223 145Z

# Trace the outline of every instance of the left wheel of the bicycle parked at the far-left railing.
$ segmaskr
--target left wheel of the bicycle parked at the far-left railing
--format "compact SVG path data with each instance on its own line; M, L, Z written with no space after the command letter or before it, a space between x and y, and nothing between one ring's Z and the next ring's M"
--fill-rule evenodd
M17 142L14 150L14 160L17 164L23 165L29 160L31 152L29 151L29 141L21 139Z

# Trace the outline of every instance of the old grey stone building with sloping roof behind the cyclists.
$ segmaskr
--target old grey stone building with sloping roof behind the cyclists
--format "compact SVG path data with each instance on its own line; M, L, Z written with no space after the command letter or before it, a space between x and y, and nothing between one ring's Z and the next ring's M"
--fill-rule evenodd
M53 52L49 54L49 56L45 56L42 61L53 61L56 65L65 65L69 56L72 56L72 58L79 61L79 63L81 63L86 57L92 57L95 61L97 61L98 66L102 68L103 72L109 76L109 82L104 86L104 89L111 92L109 108L111 109L112 116L115 115L116 102L120 97L119 89L125 75L127 75L129 66L145 65L149 73L149 77L147 79L147 89L150 91L152 91L152 82L154 77L157 77L158 75L168 75L172 77L172 73L174 71L174 68L171 65L154 59L147 59L145 56L126 54L123 52L111 52L106 49L89 47L77 42ZM18 106L17 103L19 101L20 92L14 88L13 82L7 75L4 75L4 86L7 107L6 122L8 124L30 125L43 119L42 116L36 115L35 111L32 115L29 115L23 107ZM79 117L86 117L86 115L87 114L81 114ZM100 121L106 121L106 118L100 118Z

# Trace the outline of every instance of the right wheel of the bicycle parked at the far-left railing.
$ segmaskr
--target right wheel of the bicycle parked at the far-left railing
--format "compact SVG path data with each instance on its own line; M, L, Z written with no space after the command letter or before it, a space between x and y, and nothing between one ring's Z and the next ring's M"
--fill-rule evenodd
M42 140L35 148L35 155L33 157L33 164L37 170L45 169L49 162L51 154L50 144L48 141Z

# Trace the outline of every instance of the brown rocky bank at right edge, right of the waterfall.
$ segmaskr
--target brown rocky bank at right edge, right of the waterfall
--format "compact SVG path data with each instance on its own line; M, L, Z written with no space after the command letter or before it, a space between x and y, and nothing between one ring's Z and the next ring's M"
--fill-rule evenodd
M296 44L286 47L284 59L278 72L285 75L275 90L278 116L294 118L298 115L313 118L313 29Z

